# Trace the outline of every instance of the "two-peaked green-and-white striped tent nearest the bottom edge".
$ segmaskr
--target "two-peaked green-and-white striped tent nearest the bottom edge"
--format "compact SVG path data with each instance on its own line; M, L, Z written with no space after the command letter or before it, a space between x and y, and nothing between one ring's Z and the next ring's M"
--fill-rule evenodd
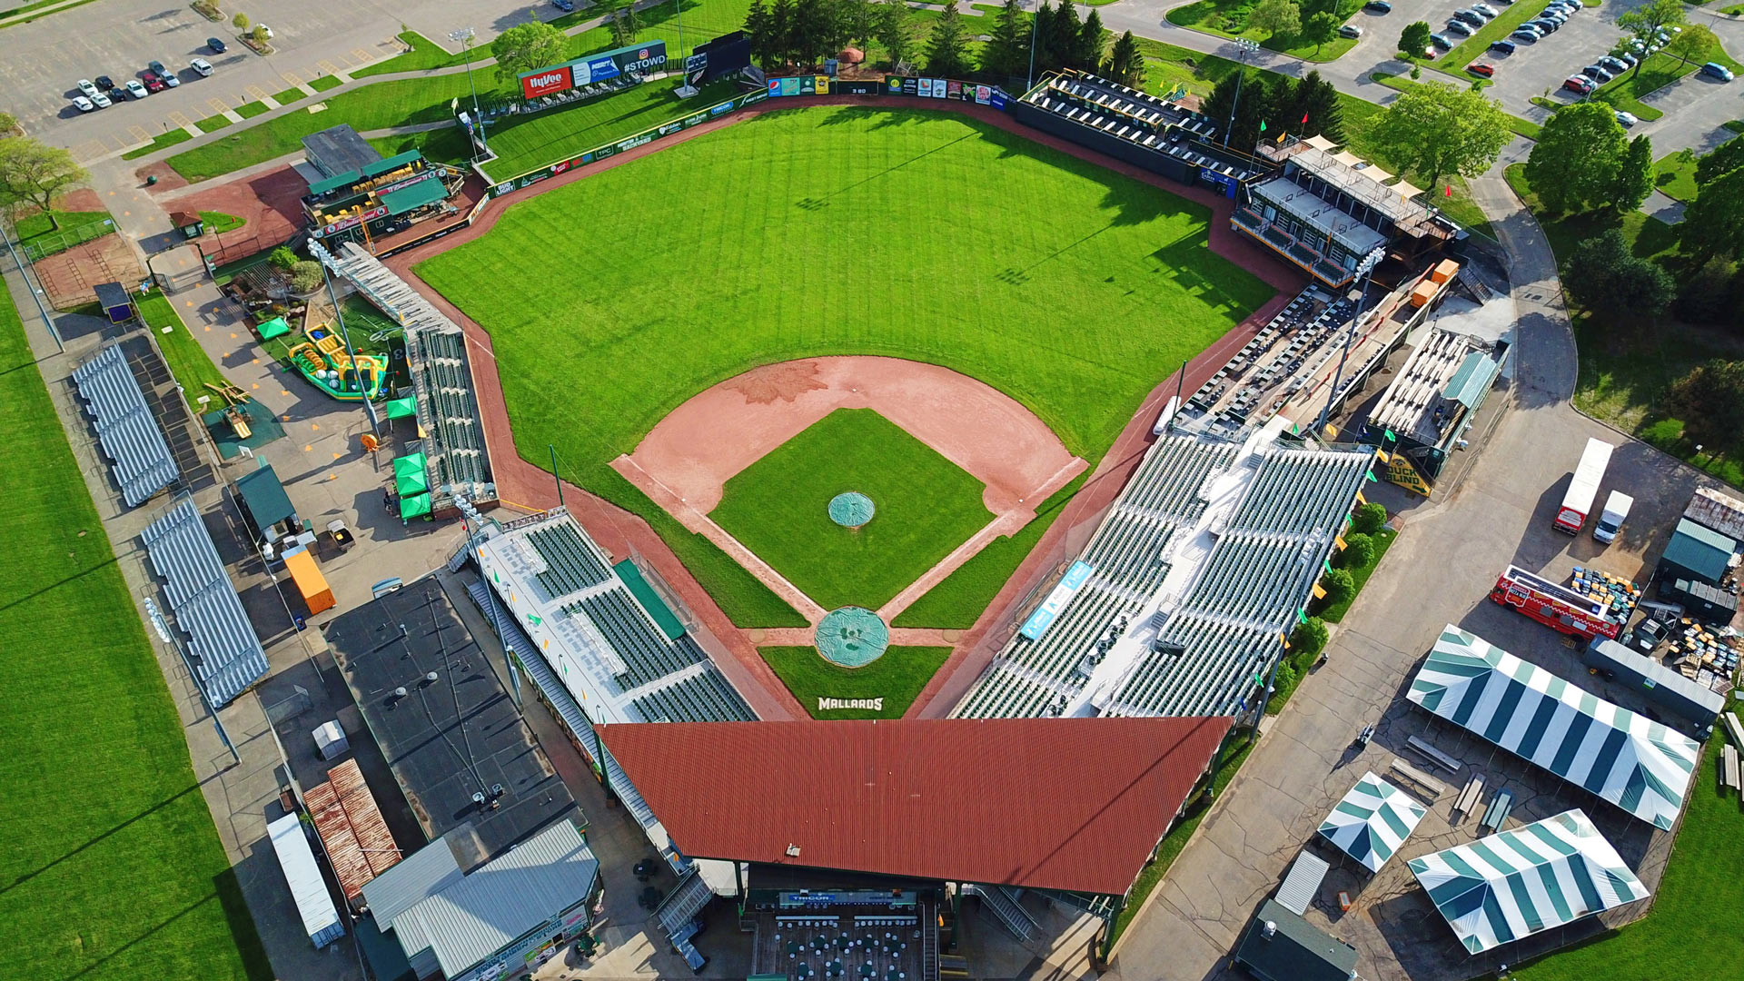
M1578 810L1411 859L1411 871L1470 953L1646 899Z

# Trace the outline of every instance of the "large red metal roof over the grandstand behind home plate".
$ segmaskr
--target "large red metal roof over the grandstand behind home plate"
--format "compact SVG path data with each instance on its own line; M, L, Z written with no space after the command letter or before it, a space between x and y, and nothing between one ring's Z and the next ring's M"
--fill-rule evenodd
M600 733L691 857L1123 895L1230 724L891 719Z

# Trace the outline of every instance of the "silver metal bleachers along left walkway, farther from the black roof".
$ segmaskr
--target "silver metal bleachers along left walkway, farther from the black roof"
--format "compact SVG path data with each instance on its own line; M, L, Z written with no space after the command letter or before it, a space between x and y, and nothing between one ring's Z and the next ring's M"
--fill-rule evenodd
M103 347L73 368L73 386L94 421L98 445L110 459L110 473L129 508L181 475L120 344Z

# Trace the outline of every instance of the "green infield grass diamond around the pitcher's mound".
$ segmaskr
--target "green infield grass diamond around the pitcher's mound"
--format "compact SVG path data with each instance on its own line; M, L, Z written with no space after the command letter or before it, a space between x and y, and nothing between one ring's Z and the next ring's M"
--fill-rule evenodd
M877 609L987 522L985 484L870 408L837 408L727 480L708 517L825 609ZM830 520L858 490L875 513Z

